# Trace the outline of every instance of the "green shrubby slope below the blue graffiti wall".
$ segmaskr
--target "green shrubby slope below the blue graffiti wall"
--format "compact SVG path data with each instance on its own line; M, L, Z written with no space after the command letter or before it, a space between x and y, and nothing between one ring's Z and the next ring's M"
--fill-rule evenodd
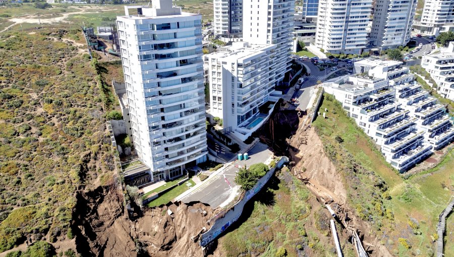
M334 256L323 207L288 169L277 172L243 211L243 216L219 238L221 256ZM315 224L314 224L315 223ZM312 247L311 247L312 246ZM350 252L351 244L345 245ZM354 256L354 255L346 255Z

